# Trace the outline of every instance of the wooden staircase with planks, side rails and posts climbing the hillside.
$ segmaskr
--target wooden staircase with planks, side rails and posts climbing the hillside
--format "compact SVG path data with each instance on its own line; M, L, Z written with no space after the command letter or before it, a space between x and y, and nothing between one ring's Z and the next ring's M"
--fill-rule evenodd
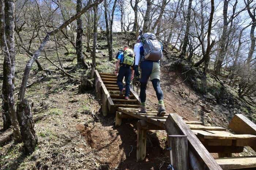
M158 117L157 111L139 113L139 96L132 89L128 100L120 96L117 76L112 73L98 73L95 70L95 90L97 98L102 102L102 114L106 116L115 113L116 126L121 126L124 118L139 119L137 161L142 161L146 157L146 131L166 130L169 135L186 136L189 146L189 169L256 170L256 157L231 157L231 153L242 152L244 146L256 150L256 125L241 115L235 116L230 122L230 129L237 133L231 134L223 127L204 126L200 121L184 121L177 114ZM248 132L249 134L246 134ZM170 136L167 139L169 146L172 145ZM219 158L212 158L210 153L218 153ZM178 157L179 154L175 155ZM186 164L183 162L178 165L179 160L174 161L177 167L175 170L183 169Z

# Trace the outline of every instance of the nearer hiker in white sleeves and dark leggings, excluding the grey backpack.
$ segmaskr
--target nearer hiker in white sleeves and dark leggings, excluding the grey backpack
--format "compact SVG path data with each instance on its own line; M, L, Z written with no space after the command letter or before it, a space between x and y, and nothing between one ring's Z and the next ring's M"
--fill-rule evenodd
M149 35L153 35L152 33L147 33ZM159 42L158 42L159 43ZM161 45L161 43L159 43ZM162 47L161 47L162 49ZM160 50L161 50L160 49ZM165 106L163 103L163 91L160 87L160 60L152 61L144 58L144 48L143 44L141 42L141 36L137 39L137 44L134 46L134 53L135 53L135 65L134 65L134 71L136 76L139 76L140 78L140 100L141 100L141 106L140 111L141 113L147 112L147 106L146 106L146 87L148 79L150 78L150 81L153 84L154 90L157 94L158 99L158 114L157 116L164 116ZM161 52L162 54L162 52ZM140 67L140 68L139 68ZM140 69L140 73L139 73Z

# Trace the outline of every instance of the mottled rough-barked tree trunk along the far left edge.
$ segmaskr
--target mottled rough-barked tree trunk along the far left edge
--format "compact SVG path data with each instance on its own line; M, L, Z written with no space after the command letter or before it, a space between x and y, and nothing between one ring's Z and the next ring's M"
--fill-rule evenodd
M15 64L12 64L14 62L15 58L15 51L14 51L14 9L15 4L14 1L6 1L5 4L5 12L3 8L4 2L1 0L0 3L0 39L1 39L1 48L4 53L4 65L3 65L3 72L4 72L4 78L5 78L5 84L3 84L4 88L4 97L5 100L4 108L8 108L8 111L4 111L5 113L8 112L12 124L12 129L14 130L14 141L16 143L20 142L20 132L19 132L19 126L18 126L18 120L15 112L14 107L14 73L12 71L15 71ZM8 15L6 18L6 24L5 24L5 17L4 15ZM5 25L5 27L4 27ZM5 38L5 29L8 32L9 40L8 42L10 44L7 44L7 40ZM10 50L8 48L8 45L10 47ZM11 53L11 54L10 54ZM11 55L13 55L13 59L11 59ZM3 103L4 104L4 103ZM6 107L7 106L7 107Z

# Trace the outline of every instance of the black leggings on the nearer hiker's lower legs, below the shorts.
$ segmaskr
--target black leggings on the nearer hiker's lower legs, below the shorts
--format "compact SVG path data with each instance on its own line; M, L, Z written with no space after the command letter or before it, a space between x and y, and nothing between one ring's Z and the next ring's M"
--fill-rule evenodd
M160 87L160 80L153 79L151 80L151 82L157 94L157 99L163 100L163 91ZM141 102L146 102L146 88L147 88L147 83L140 82L140 101Z

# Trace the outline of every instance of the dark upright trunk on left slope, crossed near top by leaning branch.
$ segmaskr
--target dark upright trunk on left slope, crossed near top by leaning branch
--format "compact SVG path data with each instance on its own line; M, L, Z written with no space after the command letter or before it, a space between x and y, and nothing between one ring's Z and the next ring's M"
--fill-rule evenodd
M76 12L82 11L82 0L77 0ZM77 56L77 66L78 68L86 68L83 58L83 21L82 17L76 19L77 23L77 34L76 34L76 56Z

